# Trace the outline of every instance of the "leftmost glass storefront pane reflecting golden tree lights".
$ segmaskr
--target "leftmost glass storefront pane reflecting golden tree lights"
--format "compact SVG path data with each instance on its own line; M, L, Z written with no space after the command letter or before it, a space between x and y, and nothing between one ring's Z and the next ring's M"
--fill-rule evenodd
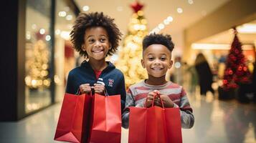
M51 104L51 1L27 0L25 46L25 112Z

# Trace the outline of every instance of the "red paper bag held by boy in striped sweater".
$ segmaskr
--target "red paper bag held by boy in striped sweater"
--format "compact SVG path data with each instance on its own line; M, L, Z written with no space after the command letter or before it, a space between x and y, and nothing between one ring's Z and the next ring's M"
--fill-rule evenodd
M129 107L129 143L181 143L179 108Z

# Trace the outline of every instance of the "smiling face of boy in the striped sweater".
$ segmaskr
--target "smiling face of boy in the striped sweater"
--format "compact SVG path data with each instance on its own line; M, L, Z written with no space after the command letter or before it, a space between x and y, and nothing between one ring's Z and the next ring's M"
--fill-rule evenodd
M148 71L148 78L163 77L173 64L171 51L162 44L151 44L143 51L141 64Z

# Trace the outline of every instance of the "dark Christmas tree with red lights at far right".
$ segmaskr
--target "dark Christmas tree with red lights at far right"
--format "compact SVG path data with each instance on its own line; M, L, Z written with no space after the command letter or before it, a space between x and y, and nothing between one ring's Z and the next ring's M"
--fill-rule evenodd
M242 54L242 44L237 37L237 30L234 28L234 40L227 56L222 87L229 91L248 82L250 82L250 71Z

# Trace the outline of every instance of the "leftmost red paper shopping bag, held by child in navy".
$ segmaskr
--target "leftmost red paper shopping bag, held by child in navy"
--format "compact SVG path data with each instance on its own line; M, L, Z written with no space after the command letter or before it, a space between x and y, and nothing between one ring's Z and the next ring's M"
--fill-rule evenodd
M65 142L82 142L89 133L90 104L92 96L65 94L60 111L54 140Z

